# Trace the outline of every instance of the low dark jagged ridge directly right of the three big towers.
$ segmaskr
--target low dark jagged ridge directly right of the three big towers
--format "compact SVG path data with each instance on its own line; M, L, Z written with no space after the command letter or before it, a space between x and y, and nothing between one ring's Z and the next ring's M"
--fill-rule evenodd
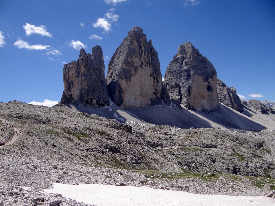
M223 103L227 107L235 109L239 112L243 112L243 105L241 104L241 99L237 95L235 87L227 87L223 81L217 79L217 93L219 102Z

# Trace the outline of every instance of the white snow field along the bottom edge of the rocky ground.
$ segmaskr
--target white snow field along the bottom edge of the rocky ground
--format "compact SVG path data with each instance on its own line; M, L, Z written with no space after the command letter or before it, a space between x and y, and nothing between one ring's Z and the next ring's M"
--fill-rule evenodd
M181 191L115 185L54 183L54 189L63 197L98 206L274 206L275 199L254 196L200 195Z

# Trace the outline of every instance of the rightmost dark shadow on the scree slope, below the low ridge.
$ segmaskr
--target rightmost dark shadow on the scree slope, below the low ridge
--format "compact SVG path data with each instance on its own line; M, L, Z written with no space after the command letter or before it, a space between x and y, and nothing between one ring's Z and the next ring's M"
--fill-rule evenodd
M260 131L267 129L264 125L223 104L221 104L218 109L208 113L202 111L192 111L196 113L198 117L204 117L229 129L243 129L250 131Z

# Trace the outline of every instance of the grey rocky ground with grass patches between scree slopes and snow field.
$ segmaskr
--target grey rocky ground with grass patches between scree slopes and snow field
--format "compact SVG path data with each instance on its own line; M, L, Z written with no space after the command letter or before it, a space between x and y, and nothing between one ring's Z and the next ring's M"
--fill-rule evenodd
M3 203L85 205L41 193L53 182L234 196L275 189L274 131L120 123L62 108L0 103L0 140L14 136L0 147Z

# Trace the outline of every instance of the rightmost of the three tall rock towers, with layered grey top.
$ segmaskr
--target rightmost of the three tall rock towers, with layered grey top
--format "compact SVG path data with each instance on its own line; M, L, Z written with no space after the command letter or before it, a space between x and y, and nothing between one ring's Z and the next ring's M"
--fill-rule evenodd
M199 111L219 107L217 72L211 62L190 42L179 46L164 78L174 104Z

